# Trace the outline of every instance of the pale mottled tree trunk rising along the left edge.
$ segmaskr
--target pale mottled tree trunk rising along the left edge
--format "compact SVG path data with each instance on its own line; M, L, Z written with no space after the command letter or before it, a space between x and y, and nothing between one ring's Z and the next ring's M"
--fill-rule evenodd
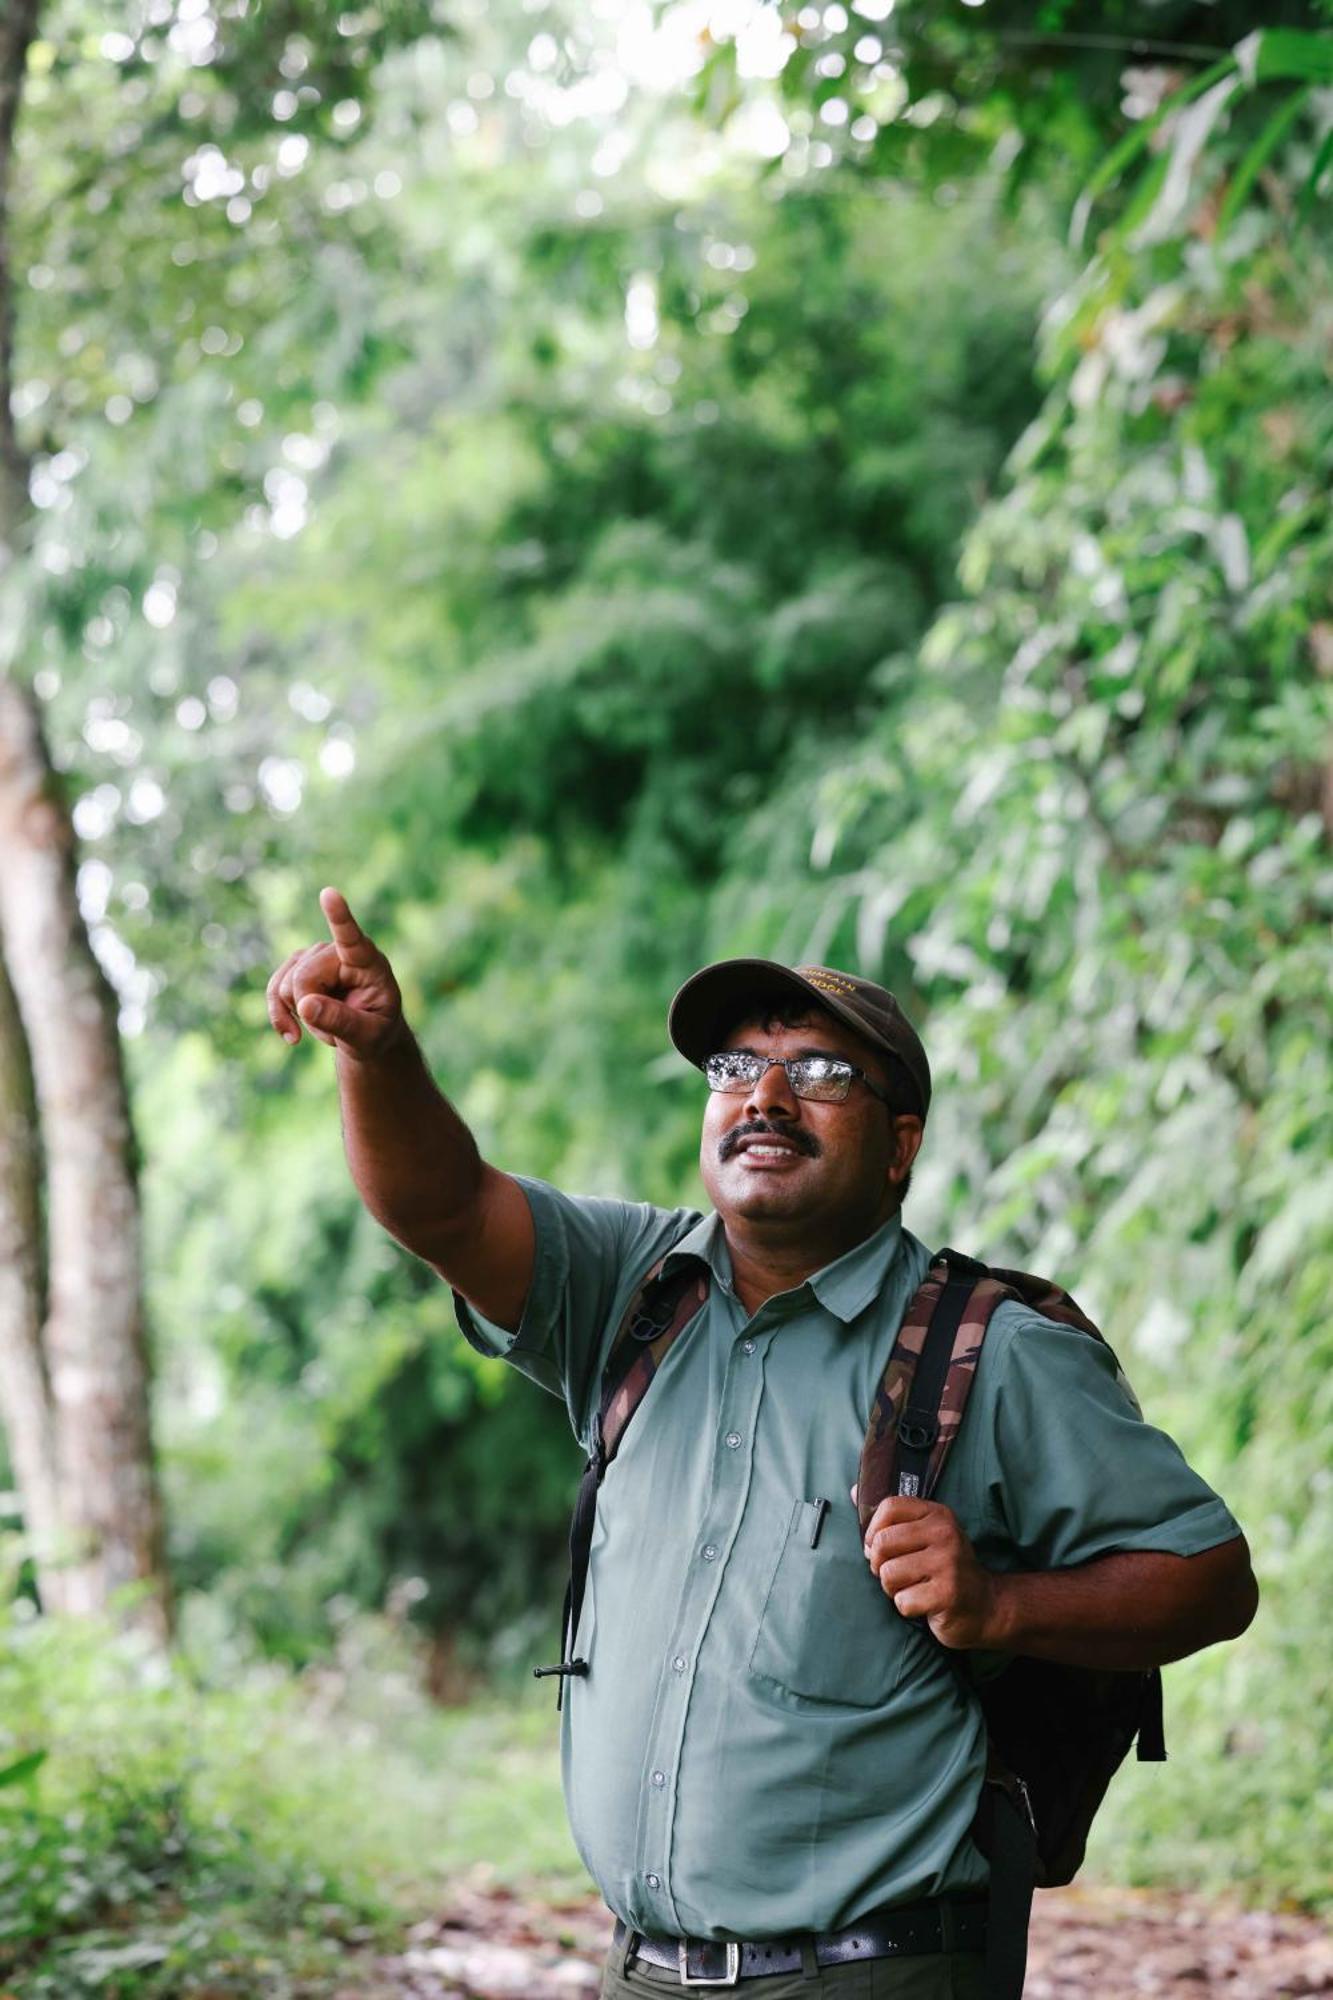
M0 20L0 574L30 538L10 418L14 126L38 0ZM42 1230L44 1218L44 1230ZM42 1604L166 1640L134 1138L116 1000L84 928L74 828L36 698L0 668L0 1418Z

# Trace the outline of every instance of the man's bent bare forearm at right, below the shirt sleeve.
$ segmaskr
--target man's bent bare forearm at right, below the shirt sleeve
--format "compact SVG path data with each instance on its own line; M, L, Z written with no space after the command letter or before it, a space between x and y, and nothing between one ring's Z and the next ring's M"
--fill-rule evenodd
M1127 1552L993 1576L993 1586L987 1646L1123 1672L1235 1638L1259 1602L1243 1540L1199 1556Z

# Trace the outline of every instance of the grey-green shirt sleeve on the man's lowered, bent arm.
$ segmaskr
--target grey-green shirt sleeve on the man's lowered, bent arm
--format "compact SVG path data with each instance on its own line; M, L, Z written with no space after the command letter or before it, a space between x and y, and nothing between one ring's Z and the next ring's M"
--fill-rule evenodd
M1105 1342L1005 1304L977 1392L979 1554L991 1566L1057 1570L1117 1550L1197 1556L1241 1534L1175 1440L1143 1420Z

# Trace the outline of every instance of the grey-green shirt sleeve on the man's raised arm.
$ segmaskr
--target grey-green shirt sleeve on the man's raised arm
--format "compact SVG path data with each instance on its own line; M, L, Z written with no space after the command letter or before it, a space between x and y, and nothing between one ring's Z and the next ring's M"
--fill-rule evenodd
M697 1222L689 1208L650 1208L600 1196L560 1194L544 1180L514 1176L536 1248L532 1284L516 1332L486 1320L454 1292L454 1316L478 1354L506 1360L552 1396L586 1446L606 1350L634 1288Z

